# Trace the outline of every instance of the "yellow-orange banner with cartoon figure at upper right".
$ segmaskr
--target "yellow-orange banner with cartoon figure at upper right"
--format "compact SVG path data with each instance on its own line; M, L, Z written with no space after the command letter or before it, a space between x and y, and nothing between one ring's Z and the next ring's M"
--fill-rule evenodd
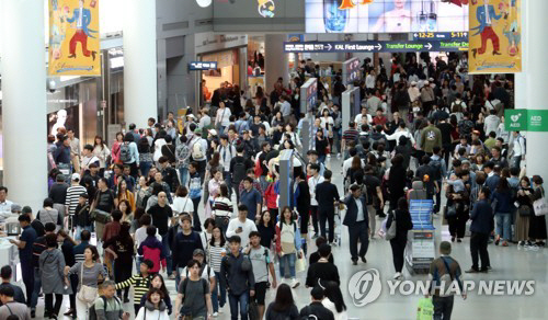
M470 73L522 71L522 0L470 0Z

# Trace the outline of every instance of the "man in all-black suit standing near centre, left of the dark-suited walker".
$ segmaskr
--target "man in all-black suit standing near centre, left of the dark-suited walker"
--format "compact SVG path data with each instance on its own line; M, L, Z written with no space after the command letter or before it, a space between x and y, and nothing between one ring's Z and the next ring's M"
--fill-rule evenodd
M333 243L334 240L334 229L335 229L335 208L338 205L339 191L336 190L336 185L331 183L332 176L331 170L326 170L323 174L323 182L316 186L316 199L318 201L318 215L320 222L320 231L323 238L326 236L326 221L329 222L329 243Z

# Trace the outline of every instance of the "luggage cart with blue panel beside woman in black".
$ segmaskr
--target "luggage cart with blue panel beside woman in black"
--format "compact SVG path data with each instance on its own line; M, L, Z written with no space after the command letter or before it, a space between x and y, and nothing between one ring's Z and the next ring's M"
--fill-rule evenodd
M436 256L433 209L433 201L412 199L409 204L413 229L408 233L406 265L411 274L427 273Z

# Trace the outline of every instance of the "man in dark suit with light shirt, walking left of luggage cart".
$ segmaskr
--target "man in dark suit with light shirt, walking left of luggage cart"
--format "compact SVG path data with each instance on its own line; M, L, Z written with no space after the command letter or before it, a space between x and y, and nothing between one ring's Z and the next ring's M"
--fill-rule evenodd
M367 253L367 248L369 247L369 239L367 237L367 233L369 232L369 219L367 214L366 195L362 195L362 188L359 185L351 185L350 191L352 194L344 199L344 204L347 209L346 215L344 216L343 225L349 227L349 242L352 264L357 265L358 255L363 263L367 262L365 254ZM359 247L359 254L357 252L358 240L362 243Z

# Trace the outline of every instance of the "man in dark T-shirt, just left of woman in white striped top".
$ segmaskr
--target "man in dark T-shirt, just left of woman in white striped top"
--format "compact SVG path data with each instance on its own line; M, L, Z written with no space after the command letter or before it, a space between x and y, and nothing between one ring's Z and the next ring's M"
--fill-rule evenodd
M192 230L192 219L187 215L181 215L181 232L176 232L173 241L171 242L171 250L173 251L173 274L175 284L179 285L181 281L180 270L182 270L189 261L192 260L196 249L204 250L199 235ZM169 265L168 260L168 268Z

